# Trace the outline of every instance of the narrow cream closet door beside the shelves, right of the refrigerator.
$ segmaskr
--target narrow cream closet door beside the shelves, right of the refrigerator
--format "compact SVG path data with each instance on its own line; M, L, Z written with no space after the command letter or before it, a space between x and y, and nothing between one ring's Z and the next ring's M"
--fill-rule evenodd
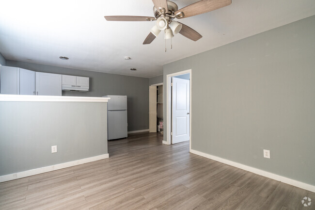
M149 132L157 132L157 86L149 86Z

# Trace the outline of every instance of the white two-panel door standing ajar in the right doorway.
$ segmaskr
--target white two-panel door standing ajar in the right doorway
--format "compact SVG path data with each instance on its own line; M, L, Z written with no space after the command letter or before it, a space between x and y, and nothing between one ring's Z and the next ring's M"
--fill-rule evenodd
M189 141L189 80L172 78L172 144Z

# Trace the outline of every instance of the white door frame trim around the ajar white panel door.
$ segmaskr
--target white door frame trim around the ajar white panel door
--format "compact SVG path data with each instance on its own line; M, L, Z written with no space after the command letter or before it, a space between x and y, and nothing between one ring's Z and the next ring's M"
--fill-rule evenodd
M185 71L180 71L180 72L176 72L176 73L173 73L173 74L168 74L166 75L166 119L167 119L167 122L166 122L166 142L163 141L163 144L166 144L166 145L171 145L172 142L171 142L171 129L172 129L172 114L171 114L171 111L172 111L172 87L171 87L171 83L172 83L172 77L175 77L175 76L179 76L179 75L182 75L182 74L187 74L189 73L189 152L191 150L191 119L192 119L192 113L191 113L191 69L188 69L188 70L185 70Z

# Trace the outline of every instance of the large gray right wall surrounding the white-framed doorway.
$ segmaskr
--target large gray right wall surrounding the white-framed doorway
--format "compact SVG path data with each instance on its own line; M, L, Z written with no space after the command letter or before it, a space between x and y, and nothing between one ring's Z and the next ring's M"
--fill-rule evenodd
M192 149L315 185L314 26L311 16L164 65L164 87L192 69Z

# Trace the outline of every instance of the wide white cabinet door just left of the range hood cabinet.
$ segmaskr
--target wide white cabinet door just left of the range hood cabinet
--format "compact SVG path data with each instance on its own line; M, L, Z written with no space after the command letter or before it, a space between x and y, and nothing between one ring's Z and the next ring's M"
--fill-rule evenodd
M35 81L36 95L40 96L62 95L61 74L35 72Z

